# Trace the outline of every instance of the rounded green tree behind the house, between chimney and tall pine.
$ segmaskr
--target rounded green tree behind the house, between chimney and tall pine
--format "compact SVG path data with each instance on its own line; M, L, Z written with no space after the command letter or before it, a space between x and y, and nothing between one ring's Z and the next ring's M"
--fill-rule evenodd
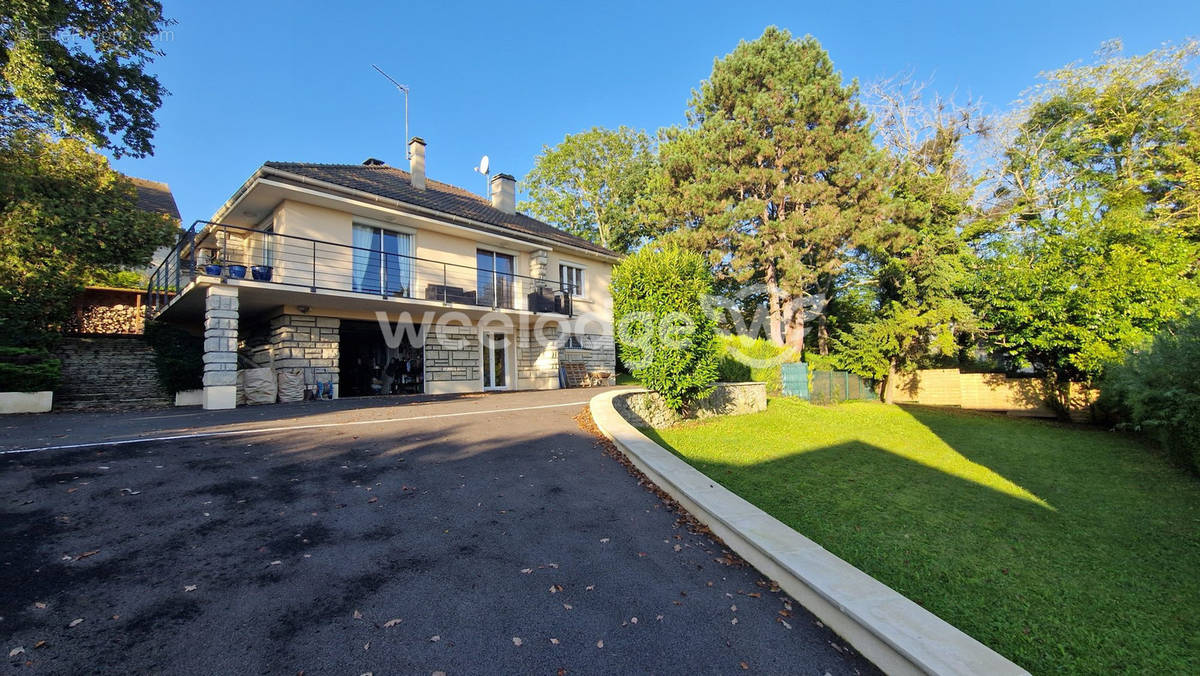
M524 179L521 209L569 233L625 253L646 234L646 184L654 167L641 130L592 127L542 148Z

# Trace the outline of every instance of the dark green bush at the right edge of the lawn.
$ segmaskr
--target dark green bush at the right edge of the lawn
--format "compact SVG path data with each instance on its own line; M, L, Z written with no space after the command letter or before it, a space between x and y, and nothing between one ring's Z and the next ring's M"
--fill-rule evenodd
M1108 369L1100 406L1200 473L1200 316L1169 325Z

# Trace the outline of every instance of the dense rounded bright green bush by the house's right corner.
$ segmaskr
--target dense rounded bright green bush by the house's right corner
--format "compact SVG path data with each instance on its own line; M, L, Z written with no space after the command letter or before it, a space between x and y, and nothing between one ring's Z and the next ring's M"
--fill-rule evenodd
M716 382L716 324L703 305L712 288L704 259L674 247L644 247L612 271L620 359L677 412Z

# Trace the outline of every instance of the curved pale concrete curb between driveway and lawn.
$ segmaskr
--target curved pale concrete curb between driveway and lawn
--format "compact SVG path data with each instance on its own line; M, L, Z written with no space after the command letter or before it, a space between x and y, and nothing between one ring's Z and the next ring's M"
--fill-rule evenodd
M647 438L612 405L634 391L594 396L596 427L730 549L884 672L1028 674Z

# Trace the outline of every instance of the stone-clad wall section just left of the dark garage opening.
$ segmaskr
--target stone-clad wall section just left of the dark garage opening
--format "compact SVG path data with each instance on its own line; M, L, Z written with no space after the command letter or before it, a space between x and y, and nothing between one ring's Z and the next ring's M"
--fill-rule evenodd
M338 379L338 328L342 321L336 317L311 317L308 315L280 315L270 322L270 336L274 365L276 369L301 369L306 385L317 382ZM254 361L263 366L263 353L254 352Z

